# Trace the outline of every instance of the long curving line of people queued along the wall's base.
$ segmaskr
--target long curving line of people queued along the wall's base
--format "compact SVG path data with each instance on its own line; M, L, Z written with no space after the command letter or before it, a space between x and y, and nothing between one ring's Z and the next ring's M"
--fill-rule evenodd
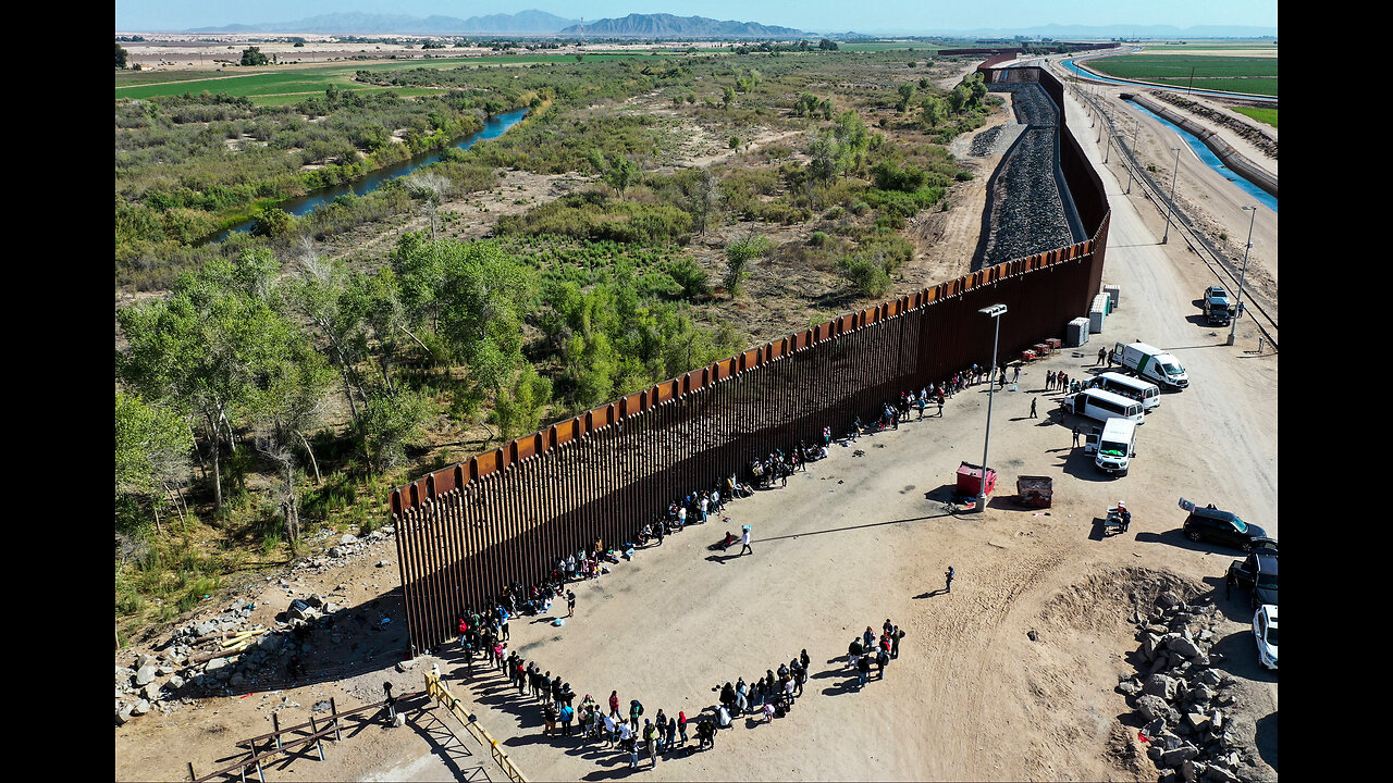
M1017 368L1017 378L1020 368ZM931 404L937 405L937 415L943 415L943 401L954 393L963 392L975 383L999 380L1006 386L1006 369L997 371L972 365L968 369L953 373L943 383L925 386L918 392L908 390L900 394L898 400L886 401L883 412L873 424L864 424L857 415L848 431L848 439L855 440L858 435L866 432L880 432L898 429L901 421L907 421L911 411L918 410L918 418L924 418L924 411ZM591 549L567 553L556 560L554 567L543 584L532 584L525 591L514 581L503 588L501 596L489 596L486 606L490 609L476 612L467 609L464 617L458 620L460 645L469 676L474 674L475 658L486 660L489 669L499 669L508 677L508 683L518 688L520 695L528 695L542 704L543 733L546 736L573 736L577 731L586 744L603 741L606 748L618 748L630 757L630 766L637 768L639 750L646 752L651 763L657 762L659 755L667 755L674 748L687 747L688 718L685 712L678 712L676 718L667 716L662 709L653 718L645 718L644 705L638 699L631 699L628 713L620 711L618 691L610 691L609 709L605 711L589 694L575 706L575 691L560 674L552 676L543 672L536 662L525 660L515 651L508 649L508 620L518 614L545 614L550 612L552 603L566 598L567 617L575 612L575 594L567 589L567 584L578 580L599 578L609 573L605 563L618 563L620 557L630 560L634 557L635 546L645 546L656 539L662 545L666 534L683 531L688 520L694 524L706 522L710 514L720 514L726 503L731 499L748 497L755 489L768 489L773 482L787 485L788 476L798 470L807 470L807 464L827 457L827 447L832 444L833 433L830 426L823 426L820 443L800 442L794 450L784 454L776 449L762 460L754 460L745 467L745 476L738 474L717 479L710 489L691 492L674 500L666 514L659 514L652 522L646 522L637 534L635 542L624 542L618 549L606 549L602 539L595 539ZM730 521L730 517L723 517ZM712 545L709 549L720 549L744 542L748 550L749 527L742 528L742 536L734 536L730 531L726 538ZM560 624L557 619L553 623ZM848 665L858 677L858 687L865 685L871 666L876 667L878 679L885 677L886 665L898 658L900 639L904 631L897 626L885 621L879 639L868 626L865 634L853 639L848 646ZM780 663L777 670L768 669L763 677L755 677L754 685L741 677L734 684L726 680L712 691L719 691L719 704L710 709L712 715L701 715L692 733L698 744L695 752L715 748L716 733L730 729L733 718L741 715L762 716L765 722L788 715L797 698L802 697L802 687L808 681L808 651ZM642 720L642 726L639 724ZM573 729L574 724L574 729Z

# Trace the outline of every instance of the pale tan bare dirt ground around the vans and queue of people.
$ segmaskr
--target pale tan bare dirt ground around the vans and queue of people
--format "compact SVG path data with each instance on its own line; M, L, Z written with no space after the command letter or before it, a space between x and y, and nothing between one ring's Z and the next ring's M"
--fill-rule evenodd
M1087 127L1088 120L1071 104L1070 123ZM1081 137L1099 162L1092 137ZM1128 623L1134 600L1145 600L1159 582L1213 596L1220 606L1219 667L1241 683L1238 720L1255 762L1250 773L1276 780L1276 676L1256 666L1241 600L1222 595L1224 568L1237 552L1187 542L1176 503L1181 496L1213 502L1277 531L1277 359L1254 351L1256 333L1247 320L1237 346L1226 347L1226 334L1187 319L1197 291L1209 284L1206 268L1180 244L1160 245L1163 217L1121 194L1126 174L1119 181L1110 167L1103 171L1114 210L1105 283L1121 287L1120 309L1082 350L1036 361L1024 368L1018 390L996 394L989 463L1002 479L986 513L954 515L942 502L958 463L982 458L988 394L972 387L947 401L943 418L840 444L787 488L731 503L730 522L690 527L578 585L577 616L566 626L513 623L514 648L545 670L564 673L578 694L603 702L606 691L617 690L624 704L641 699L649 716L662 708L692 718L715 704L713 685L751 680L807 648L811 680L787 718L770 724L737 719L713 752L674 755L655 769L645 759L635 775L1155 779L1135 738L1138 723L1113 687L1134 672L1127 660L1137 648ZM1187 184L1183 176L1181 187ZM1275 248L1275 234L1265 241ZM1082 376L1099 346L1134 339L1173 351L1192 385L1166 394L1148 415L1131 475L1107 479L1070 447L1075 419L1061 426L1050 415L1057 393L1042 392L1042 379L1048 369ZM1039 418L1028 417L1032 398ZM1206 447L1197 450L1201 433ZM1052 509L1013 503L1021 474L1053 478ZM1220 475L1222 483L1215 481ZM1119 499L1134 510L1137 532L1102 538L1096 518ZM708 552L742 524L752 525L752 555ZM382 560L387 564L378 567ZM942 589L949 566L957 571L951 594ZM343 600L369 621L380 624L382 614L387 627L400 628L390 543L344 568L302 571L298 581L265 582L247 596L260 599L259 612L274 612L288 603L288 589L327 595L341 587ZM872 679L857 691L844 665L847 642L866 626L879 630L887 617L907 631L901 655L885 681ZM325 660L351 658L348 646L372 637L348 634L338 645L325 644ZM178 779L189 761L201 772L213 769L235 758L237 740L269 731L273 709L284 724L308 720L311 705L330 695L340 711L376 701L383 680L419 690L432 663L528 777L630 775L627 758L614 751L543 737L539 706L482 667L465 677L453 651L423 656L405 673L391 669L396 659L383 653L311 685L148 715L116 730L116 777ZM316 666L309 670L315 677ZM472 738L451 740L454 720L442 711L407 712L401 729L352 723L344 740L326 744L326 761L302 755L269 770L267 779L503 779Z

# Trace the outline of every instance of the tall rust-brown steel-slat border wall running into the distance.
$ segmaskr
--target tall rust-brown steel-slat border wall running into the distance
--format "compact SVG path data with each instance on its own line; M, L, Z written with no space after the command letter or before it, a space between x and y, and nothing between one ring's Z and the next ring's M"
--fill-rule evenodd
M985 75L1039 81L1063 104L1063 85L1038 68ZM1109 210L1063 111L1059 128L1060 170L1088 240L752 347L393 489L411 653L454 638L461 612L503 585L540 582L557 557L596 539L631 539L673 500L752 458L815 440L823 426L840 436L903 390L990 364L983 307L1010 308L1000 357L1061 337L1102 287Z

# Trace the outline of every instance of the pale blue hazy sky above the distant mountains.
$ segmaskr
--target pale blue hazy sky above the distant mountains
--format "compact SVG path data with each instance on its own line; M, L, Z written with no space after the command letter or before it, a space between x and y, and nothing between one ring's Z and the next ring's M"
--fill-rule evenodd
M752 21L809 32L976 29L1036 25L1259 25L1277 26L1277 0L124 0L118 31L178 31L227 24L281 22L334 11L412 17L478 17L536 8L599 20L667 13Z

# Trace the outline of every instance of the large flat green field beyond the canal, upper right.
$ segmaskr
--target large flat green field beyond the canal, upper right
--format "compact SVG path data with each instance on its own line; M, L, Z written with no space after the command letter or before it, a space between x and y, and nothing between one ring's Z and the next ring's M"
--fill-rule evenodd
M1088 60L1085 65L1119 79L1277 95L1276 57L1121 54Z

